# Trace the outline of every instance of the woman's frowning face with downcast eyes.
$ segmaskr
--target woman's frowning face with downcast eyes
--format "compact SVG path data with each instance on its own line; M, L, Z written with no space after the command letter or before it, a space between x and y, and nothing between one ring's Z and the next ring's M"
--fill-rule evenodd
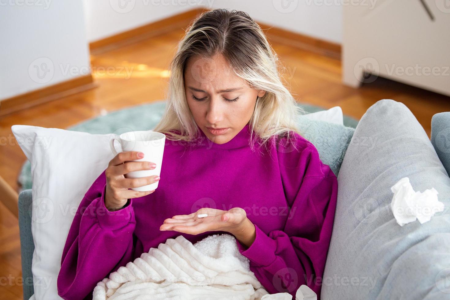
M198 127L217 144L233 139L247 125L257 97L266 94L250 88L236 76L221 54L189 59L184 71L184 90Z

